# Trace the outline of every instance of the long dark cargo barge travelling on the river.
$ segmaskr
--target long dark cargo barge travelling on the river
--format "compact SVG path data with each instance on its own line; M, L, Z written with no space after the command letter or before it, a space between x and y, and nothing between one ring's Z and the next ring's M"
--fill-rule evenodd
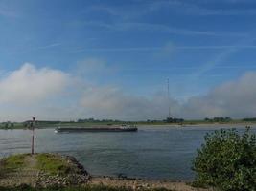
M113 126L93 126L93 127L58 127L56 133L72 132L136 132L138 128L135 125L113 125Z

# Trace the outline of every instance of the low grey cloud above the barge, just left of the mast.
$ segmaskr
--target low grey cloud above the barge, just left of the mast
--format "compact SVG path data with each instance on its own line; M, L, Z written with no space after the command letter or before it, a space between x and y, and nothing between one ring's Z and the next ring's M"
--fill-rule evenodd
M175 112L178 103L171 101ZM167 117L167 96L157 94L151 98L131 96L113 87L94 87L84 91L81 106L93 117L126 120L162 119Z

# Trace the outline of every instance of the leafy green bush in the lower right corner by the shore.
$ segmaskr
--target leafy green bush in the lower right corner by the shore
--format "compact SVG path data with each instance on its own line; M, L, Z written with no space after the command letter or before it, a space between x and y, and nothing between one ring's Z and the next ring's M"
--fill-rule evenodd
M235 129L219 130L205 136L193 161L200 186L222 191L256 190L256 138L249 127L244 135Z

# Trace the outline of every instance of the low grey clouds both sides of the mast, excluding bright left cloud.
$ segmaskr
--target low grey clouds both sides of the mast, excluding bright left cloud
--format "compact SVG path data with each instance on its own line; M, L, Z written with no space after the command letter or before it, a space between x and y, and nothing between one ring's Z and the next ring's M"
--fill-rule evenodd
M171 98L174 117L255 117L256 73L224 83L205 96L194 96L184 103ZM81 106L92 117L128 120L163 119L168 114L168 101L164 94L151 98L126 95L113 87L95 87L85 90Z

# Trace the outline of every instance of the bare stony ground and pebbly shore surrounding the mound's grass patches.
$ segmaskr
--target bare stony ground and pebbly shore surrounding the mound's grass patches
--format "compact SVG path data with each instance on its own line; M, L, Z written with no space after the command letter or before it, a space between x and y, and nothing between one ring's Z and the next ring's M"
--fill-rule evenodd
M64 162L64 168L59 165L57 173L50 173L47 170L37 168L38 159L40 155L58 159L59 162ZM44 157L45 157L44 156ZM36 160L37 159L37 160ZM3 161L1 159L0 161ZM24 166L16 169L6 176L0 177L0 186L18 186L21 184L28 184L33 187L67 187L67 186L97 186L104 185L109 187L125 187L130 190L151 190L164 188L166 190L175 191L205 191L206 189L194 188L184 181L173 180L145 180L128 178L124 175L117 177L110 176L91 176L84 169L81 163L74 157L62 156L58 154L35 154L26 155L24 157ZM63 168L65 171L63 171ZM1 170L1 169L0 169ZM63 173L58 173L64 172ZM29 173L32 173L31 175Z

